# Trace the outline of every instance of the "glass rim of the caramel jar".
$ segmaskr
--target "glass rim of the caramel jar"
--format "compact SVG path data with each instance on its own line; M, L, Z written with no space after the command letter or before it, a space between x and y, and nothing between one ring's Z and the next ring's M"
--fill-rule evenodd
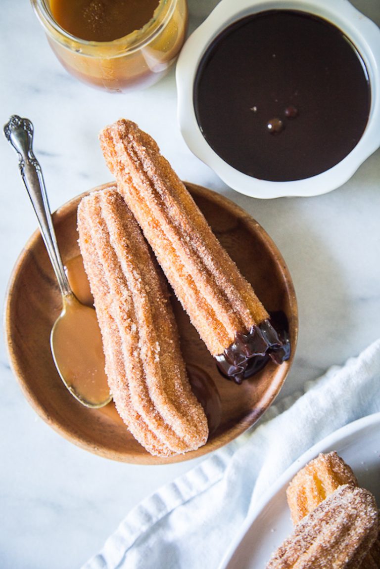
M152 18L139 30L134 30L121 38L109 42L97 42L95 40L78 38L64 30L53 17L48 6L48 0L31 0L32 7L40 23L52 39L71 51L77 51L81 55L89 57L99 57L99 48L101 47L105 50L105 53L102 53L102 59L123 56L126 52L132 53L136 50L141 50L169 22L176 3L177 0L159 0Z

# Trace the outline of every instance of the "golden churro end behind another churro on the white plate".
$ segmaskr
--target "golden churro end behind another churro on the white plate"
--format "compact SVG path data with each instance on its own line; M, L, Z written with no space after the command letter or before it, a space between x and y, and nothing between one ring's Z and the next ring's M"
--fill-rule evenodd
M287 489L293 523L312 512L342 484L358 485L352 469L335 451L321 453L297 472Z

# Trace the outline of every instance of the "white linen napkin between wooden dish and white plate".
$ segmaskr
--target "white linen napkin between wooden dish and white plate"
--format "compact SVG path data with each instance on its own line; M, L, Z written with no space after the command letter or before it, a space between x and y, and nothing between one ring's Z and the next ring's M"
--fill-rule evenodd
M313 444L380 411L380 339L146 498L82 569L216 569L250 508Z

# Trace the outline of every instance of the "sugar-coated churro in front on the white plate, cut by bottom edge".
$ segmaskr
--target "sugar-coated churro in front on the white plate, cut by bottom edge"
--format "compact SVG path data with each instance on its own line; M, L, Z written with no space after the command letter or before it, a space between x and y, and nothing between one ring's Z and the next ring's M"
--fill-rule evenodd
M297 523L267 569L358 569L377 533L375 498L346 484Z

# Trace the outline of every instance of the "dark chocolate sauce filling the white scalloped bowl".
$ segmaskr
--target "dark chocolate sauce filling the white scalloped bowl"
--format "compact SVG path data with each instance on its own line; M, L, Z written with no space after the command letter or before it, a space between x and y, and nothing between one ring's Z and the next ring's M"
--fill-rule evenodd
M273 181L309 178L345 158L365 130L370 99L365 64L344 33L292 10L227 27L194 84L197 121L216 154Z

